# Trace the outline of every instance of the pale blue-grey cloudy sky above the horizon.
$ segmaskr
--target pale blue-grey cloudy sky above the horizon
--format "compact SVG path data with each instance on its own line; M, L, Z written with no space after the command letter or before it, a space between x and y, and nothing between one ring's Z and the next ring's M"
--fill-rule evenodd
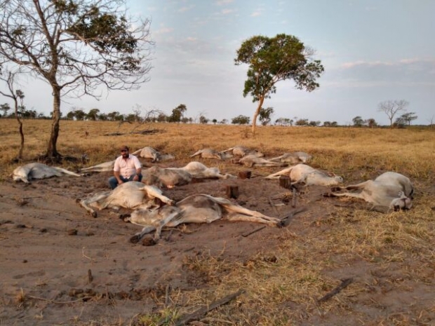
M113 91L99 102L64 98L61 110L98 108L109 113L159 109L170 114L185 104L185 116L203 113L218 121L253 116L243 97L248 66L234 65L236 50L255 35L290 34L316 50L325 72L320 88L297 90L280 82L263 107L277 118L307 118L352 124L375 118L377 106L406 100L416 124L435 118L434 0L127 0L131 13L150 18L155 42L150 81L140 90ZM32 81L22 88L27 108L51 111L51 91ZM1 101L1 103L6 102Z

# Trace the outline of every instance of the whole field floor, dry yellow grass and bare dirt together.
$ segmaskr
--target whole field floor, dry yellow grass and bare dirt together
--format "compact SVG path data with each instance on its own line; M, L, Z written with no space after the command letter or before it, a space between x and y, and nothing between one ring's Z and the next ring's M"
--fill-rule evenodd
M26 162L44 153L50 125L24 121ZM267 157L306 151L313 156L310 165L342 175L345 184L389 170L407 175L415 186L413 208L374 212L358 200L324 197L329 189L313 186L298 195L307 210L284 229L241 237L257 226L219 221L187 226L171 239L165 233L168 240L154 247L132 245L128 238L137 226L121 224L109 212L93 219L74 201L107 189L110 173L30 186L11 182L18 126L0 119L0 325L181 325L188 313L239 290L189 325L435 325L434 130L267 126L253 137L246 126L152 123L136 130L155 133L128 134L134 127L61 121L58 151L86 154L86 166L111 161L120 144L173 154L175 161L164 166L185 165L206 147L241 144ZM126 135L104 135L114 132ZM200 161L234 175L246 170L230 161ZM74 171L83 166L62 165ZM283 217L291 210L290 194L262 178L280 168L250 170L253 178L234 181L238 202ZM163 192L176 200L195 192L220 195L228 182ZM279 205L272 207L271 196ZM68 236L70 229L78 235ZM344 280L347 287L334 292ZM71 293L78 287L84 298Z

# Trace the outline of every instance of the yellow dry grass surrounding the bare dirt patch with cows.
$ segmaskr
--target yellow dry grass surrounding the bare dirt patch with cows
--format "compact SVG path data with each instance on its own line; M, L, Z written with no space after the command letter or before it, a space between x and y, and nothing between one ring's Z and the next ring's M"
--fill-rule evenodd
M25 159L31 161L44 153L50 125L51 121L25 121ZM328 320L338 323L329 325L433 325L431 322L435 322L435 297L431 297L431 304L422 305L420 311L404 306L402 311L388 314L369 313L382 311L382 304L373 299L361 301L375 287L384 291L394 287L411 293L413 286L433 285L433 130L269 126L257 128L253 137L246 126L153 123L137 130L157 129L161 133L103 135L115 131L128 133L133 127L112 122L61 121L58 151L77 157L87 154L90 164L112 160L118 154L119 144L128 144L133 150L154 147L175 155L180 162L189 161L188 156L197 149L222 150L236 144L260 149L268 156L306 151L314 156L312 165L334 171L346 182L393 170L413 179L417 191L415 207L409 212L386 215L338 208L326 218L307 222L309 231L303 236L286 230L284 236L280 235L281 245L273 253L257 254L246 262L227 262L222 257L208 255L186 258L185 268L207 280L207 287L173 291L169 305L165 304L168 298L156 298L161 309L135 318L132 325L173 325L176 316L241 288L246 290L245 294L210 311L203 322L207 325L328 325L323 318L331 315L335 319ZM6 179L17 165L11 160L18 153L19 135L13 120L0 119L0 130L0 176ZM78 166L65 163L65 167ZM337 277L332 277L333 271L342 270L345 274L359 266L370 269L370 273L361 272L358 282L333 299L322 304L316 301L340 283ZM352 316L352 320L347 320L347 316Z

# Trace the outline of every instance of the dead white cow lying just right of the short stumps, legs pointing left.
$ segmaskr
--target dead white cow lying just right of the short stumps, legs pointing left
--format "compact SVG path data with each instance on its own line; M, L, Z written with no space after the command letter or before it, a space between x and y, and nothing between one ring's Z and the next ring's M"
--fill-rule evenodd
M336 186L343 182L343 178L337 175L328 175L306 164L297 164L285 168L279 172L265 177L266 179L279 179L281 175L288 175L292 184L305 184L307 186Z

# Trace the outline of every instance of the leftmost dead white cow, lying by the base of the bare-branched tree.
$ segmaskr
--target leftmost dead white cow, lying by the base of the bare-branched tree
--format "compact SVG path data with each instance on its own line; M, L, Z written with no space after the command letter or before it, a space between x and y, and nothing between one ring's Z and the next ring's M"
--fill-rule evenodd
M46 179L49 177L61 177L65 175L74 175L75 177L81 177L81 175L65 170L64 168L58 168L55 166L48 166L42 163L29 163L20 166L13 170L13 181L22 181L29 183L32 179Z

